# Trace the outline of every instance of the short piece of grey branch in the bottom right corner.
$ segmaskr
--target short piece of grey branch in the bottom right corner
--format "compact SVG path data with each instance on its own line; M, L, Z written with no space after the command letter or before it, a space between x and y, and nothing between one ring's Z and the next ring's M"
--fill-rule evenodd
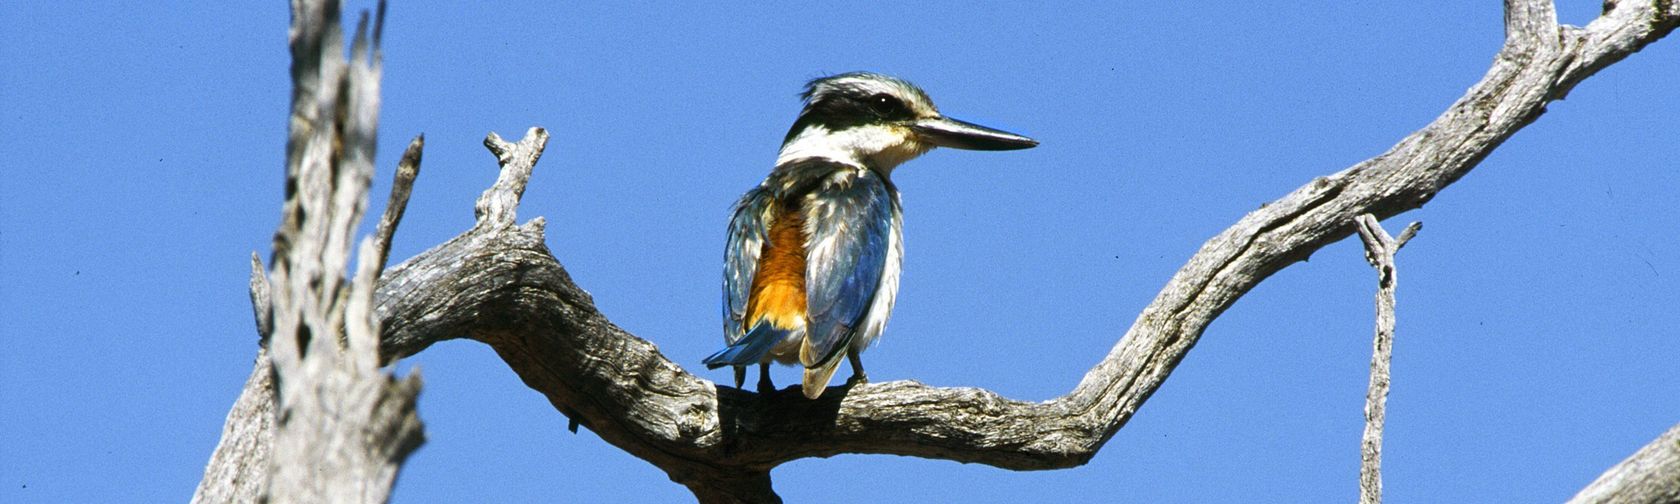
M1680 502L1680 423L1604 470L1569 504Z

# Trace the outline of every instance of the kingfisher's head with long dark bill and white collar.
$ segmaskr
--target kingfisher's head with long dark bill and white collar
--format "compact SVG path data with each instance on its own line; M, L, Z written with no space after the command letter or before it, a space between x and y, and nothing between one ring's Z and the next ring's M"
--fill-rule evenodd
M800 158L852 161L892 173L936 148L1010 151L1038 141L939 114L927 92L895 77L852 72L805 84L805 109L776 163Z

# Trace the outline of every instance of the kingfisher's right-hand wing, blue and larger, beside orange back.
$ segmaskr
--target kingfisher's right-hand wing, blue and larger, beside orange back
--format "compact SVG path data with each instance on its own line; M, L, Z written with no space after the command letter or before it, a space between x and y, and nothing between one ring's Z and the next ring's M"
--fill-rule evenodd
M862 329L887 265L895 207L874 171L832 178L806 202L805 301L810 318L806 368L837 358Z

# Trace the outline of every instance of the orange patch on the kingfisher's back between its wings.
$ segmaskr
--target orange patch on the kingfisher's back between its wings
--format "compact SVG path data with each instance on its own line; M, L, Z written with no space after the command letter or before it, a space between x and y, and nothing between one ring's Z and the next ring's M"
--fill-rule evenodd
M783 329L805 326L805 215L781 205L776 213L748 294L748 328L761 319Z

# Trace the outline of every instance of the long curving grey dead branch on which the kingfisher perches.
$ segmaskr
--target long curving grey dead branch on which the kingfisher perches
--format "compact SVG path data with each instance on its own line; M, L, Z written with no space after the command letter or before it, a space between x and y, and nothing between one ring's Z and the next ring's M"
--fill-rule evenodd
M491 134L486 146L502 171L479 198L477 223L380 277L380 361L450 338L482 341L559 413L664 469L702 502L774 502L773 467L837 454L1016 470L1075 467L1126 425L1203 329L1258 282L1346 239L1357 215L1381 218L1421 207L1537 119L1547 102L1677 24L1680 5L1668 0L1611 2L1586 27L1557 25L1551 2L1507 0L1505 45L1463 97L1386 153L1315 178L1208 240L1109 354L1055 400L1020 402L916 381L840 386L805 400L796 391L756 395L690 375L596 311L544 245L543 218L516 223L519 197L548 138L539 128L519 143ZM269 391L252 381L245 393ZM234 415L228 422L234 435ZM1668 474L1680 480L1680 472Z

